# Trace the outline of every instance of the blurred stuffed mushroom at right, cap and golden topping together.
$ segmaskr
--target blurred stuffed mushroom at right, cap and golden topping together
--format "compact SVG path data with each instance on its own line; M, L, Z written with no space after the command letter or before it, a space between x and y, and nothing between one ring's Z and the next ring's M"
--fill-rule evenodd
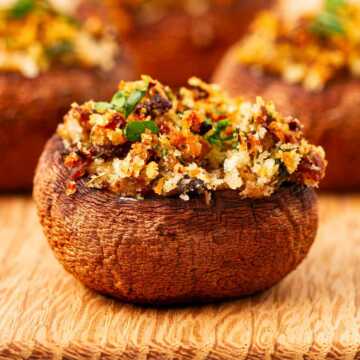
M294 4L295 5L295 4ZM323 189L360 188L359 3L326 0L304 14L267 11L220 64L232 95L272 99L302 119L329 160Z

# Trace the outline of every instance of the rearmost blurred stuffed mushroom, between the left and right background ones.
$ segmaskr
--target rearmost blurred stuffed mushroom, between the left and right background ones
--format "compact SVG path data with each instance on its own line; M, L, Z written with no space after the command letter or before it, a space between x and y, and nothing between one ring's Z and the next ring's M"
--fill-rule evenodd
M270 0L108 0L139 74L172 86L209 79L227 48Z

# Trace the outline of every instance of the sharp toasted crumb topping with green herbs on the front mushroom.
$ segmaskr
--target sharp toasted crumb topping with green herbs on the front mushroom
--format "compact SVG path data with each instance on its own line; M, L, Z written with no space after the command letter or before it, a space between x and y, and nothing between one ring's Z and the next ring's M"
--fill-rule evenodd
M73 104L59 125L68 193L83 179L121 196L180 196L232 189L271 195L285 182L316 187L326 160L297 119L272 103L229 98L197 78L173 92L143 76L109 102Z

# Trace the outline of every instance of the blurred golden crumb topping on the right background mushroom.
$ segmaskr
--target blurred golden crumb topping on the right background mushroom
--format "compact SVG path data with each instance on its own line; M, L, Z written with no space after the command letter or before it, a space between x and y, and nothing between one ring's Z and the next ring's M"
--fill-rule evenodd
M254 70L319 91L344 74L360 76L360 5L324 0L319 13L287 21L263 12L240 43L236 57Z

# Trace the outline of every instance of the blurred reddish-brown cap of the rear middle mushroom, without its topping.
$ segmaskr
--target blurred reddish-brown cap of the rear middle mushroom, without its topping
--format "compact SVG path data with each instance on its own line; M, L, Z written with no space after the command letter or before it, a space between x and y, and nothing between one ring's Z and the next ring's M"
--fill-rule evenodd
M121 3L108 2L115 9ZM209 6L200 15L175 8L157 21L146 23L139 23L128 14L131 24L124 41L132 51L138 75L149 74L171 86L184 85L193 75L208 80L227 48L245 33L256 12L271 2L238 0L232 5ZM118 24L123 27L122 17Z

